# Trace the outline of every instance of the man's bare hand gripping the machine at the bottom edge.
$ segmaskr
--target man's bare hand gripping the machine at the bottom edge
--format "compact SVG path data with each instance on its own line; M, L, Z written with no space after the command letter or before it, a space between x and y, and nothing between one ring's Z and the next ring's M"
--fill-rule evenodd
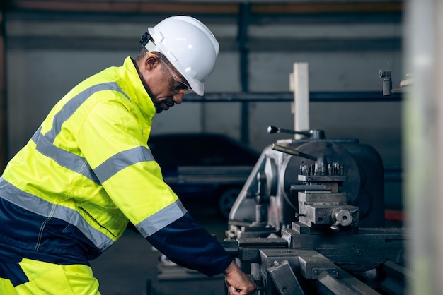
M225 282L229 289L229 294L251 295L255 291L256 286L254 282L241 271L234 261L226 268L224 274L226 275Z

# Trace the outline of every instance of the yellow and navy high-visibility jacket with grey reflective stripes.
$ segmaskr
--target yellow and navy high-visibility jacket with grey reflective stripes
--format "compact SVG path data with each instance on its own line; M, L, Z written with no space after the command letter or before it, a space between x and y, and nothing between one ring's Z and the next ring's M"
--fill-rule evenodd
M0 256L88 264L129 220L174 262L225 270L229 255L163 182L147 145L154 114L130 57L68 92L0 178Z

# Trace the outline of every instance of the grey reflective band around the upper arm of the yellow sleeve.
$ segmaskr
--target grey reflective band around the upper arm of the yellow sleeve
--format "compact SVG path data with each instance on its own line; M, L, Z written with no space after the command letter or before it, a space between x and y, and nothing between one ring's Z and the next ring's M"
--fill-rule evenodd
M148 150L146 147L139 146L113 155L113 157L110 157L96 167L94 172L98 176L98 179L100 179L100 182L103 183L110 179L110 177L115 175L118 171L121 171L132 164L146 161L154 161L151 150Z

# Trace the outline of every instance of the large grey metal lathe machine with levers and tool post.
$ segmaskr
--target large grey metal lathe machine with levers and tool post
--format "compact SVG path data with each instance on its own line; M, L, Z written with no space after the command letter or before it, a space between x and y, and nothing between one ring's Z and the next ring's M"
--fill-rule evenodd
M357 139L291 133L263 150L223 245L259 295L403 294L405 230L384 227L384 168Z

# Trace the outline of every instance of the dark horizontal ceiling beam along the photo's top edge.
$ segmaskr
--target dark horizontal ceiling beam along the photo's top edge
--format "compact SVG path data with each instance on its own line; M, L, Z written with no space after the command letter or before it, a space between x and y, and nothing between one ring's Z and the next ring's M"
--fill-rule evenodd
M140 1L60 1L10 0L8 9L20 11L70 11L100 13L209 13L238 14L240 3L220 2L140 2ZM251 3L251 13L368 13L398 12L401 1Z

